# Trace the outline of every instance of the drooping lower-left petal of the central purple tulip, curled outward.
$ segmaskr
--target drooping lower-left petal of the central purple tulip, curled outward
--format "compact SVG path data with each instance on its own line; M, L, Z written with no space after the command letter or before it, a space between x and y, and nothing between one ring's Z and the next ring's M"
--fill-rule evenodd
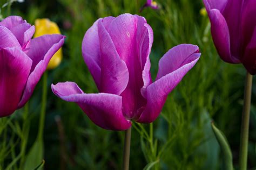
M93 123L107 130L126 130L131 126L122 114L122 97L113 94L85 94L73 82L52 84L53 93L64 101L75 102Z

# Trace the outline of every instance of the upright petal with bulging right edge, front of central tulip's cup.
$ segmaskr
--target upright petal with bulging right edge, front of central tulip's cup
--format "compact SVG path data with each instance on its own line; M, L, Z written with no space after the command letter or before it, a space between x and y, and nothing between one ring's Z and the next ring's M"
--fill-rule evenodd
M100 46L100 89L102 93L120 95L129 81L128 69L120 59L113 41L102 22L98 22Z

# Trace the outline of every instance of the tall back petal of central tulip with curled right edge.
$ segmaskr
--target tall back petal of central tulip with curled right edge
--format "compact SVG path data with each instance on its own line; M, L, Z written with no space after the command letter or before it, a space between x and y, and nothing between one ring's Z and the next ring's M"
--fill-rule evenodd
M141 108L146 104L140 91L143 86L152 82L149 54L153 31L146 24L145 18L129 13L112 20L108 31L120 58L125 61L129 70L129 82L121 94L123 114L126 118L138 119Z

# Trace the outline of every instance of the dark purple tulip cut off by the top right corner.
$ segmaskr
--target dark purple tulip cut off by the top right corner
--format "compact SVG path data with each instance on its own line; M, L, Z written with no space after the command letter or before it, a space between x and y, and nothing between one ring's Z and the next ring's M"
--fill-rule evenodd
M242 63L256 73L256 1L204 0L212 38L226 62Z

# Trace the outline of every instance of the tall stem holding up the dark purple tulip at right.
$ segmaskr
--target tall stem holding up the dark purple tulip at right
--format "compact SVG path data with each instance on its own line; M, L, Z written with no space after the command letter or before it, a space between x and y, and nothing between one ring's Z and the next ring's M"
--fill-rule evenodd
M245 80L244 109L242 111L242 124L240 136L240 170L247 169L248 135L250 121L250 107L252 94L252 75L247 72Z

